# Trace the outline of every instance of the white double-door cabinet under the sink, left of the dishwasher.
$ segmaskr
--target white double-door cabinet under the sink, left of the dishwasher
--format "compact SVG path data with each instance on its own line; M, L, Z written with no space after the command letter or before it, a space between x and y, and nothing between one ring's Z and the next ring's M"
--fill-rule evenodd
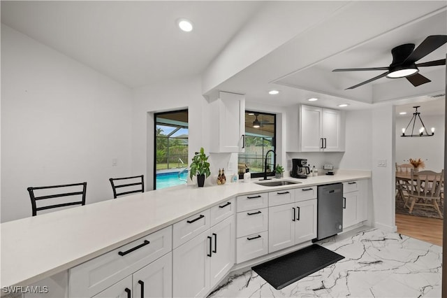
M268 252L316 238L316 199L269 208Z

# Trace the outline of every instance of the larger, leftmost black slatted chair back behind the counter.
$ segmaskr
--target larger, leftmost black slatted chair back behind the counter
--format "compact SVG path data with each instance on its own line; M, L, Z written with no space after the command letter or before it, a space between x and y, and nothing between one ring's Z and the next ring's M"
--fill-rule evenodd
M28 187L33 216L38 211L66 206L85 205L87 182L66 185ZM45 200L45 201L43 201Z

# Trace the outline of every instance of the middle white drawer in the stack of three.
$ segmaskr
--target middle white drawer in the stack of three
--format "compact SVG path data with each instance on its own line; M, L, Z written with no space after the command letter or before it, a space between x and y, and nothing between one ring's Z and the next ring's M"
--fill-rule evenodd
M261 233L268 229L268 208L237 213L236 237Z

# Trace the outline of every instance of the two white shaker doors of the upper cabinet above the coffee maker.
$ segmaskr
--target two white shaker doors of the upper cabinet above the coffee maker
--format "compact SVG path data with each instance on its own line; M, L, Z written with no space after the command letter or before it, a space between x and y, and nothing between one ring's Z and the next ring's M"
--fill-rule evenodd
M344 151L342 111L302 105L300 107L300 151Z

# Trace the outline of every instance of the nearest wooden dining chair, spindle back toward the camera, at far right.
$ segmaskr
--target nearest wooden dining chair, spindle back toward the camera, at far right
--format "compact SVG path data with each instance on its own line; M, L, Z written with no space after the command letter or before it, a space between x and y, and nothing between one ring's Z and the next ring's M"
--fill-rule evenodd
M434 171L411 171L408 199L409 213L415 206L432 207L437 211L439 218L443 218L438 202L441 201L441 189L444 185L444 170L440 173Z

